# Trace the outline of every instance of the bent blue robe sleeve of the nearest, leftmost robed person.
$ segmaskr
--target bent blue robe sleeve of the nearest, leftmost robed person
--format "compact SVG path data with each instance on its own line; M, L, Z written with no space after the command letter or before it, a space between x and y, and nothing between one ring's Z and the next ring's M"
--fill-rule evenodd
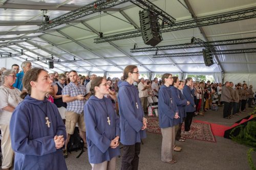
M31 120L25 110L20 107L14 110L10 122L13 151L34 156L42 156L56 152L54 136L29 139L29 133L31 131L30 122Z

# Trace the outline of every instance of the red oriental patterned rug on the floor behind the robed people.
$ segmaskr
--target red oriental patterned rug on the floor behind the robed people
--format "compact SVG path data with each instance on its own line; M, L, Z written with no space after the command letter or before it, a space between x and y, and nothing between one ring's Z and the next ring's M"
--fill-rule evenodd
M161 134L159 128L159 120L156 116L147 116L147 132ZM190 127L191 133L184 134L184 123L182 125L182 136L189 139L203 140L209 142L216 142L214 135L212 134L210 124L192 122Z

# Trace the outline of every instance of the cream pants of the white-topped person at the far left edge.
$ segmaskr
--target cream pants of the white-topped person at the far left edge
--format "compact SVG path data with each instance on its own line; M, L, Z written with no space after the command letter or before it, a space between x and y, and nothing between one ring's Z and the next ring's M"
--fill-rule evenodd
M1 149L3 154L2 168L9 168L12 166L12 158L13 158L9 125L0 125L0 129L2 134L2 140L1 140Z

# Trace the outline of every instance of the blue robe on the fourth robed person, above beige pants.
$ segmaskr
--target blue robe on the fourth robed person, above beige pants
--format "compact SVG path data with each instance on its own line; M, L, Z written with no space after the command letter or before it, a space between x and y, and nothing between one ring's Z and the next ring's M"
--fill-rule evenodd
M172 98L170 88L162 85L158 91L158 115L160 128L168 128L175 126L174 116L179 109Z

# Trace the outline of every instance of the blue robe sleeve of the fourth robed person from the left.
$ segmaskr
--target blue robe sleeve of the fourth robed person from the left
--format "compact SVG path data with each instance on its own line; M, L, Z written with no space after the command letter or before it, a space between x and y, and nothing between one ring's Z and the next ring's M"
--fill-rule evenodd
M165 90L158 91L158 108L163 110L163 114L165 114L170 119L174 119L175 112L174 108L170 108L169 106L169 97L166 96ZM168 94L168 93L167 93Z

